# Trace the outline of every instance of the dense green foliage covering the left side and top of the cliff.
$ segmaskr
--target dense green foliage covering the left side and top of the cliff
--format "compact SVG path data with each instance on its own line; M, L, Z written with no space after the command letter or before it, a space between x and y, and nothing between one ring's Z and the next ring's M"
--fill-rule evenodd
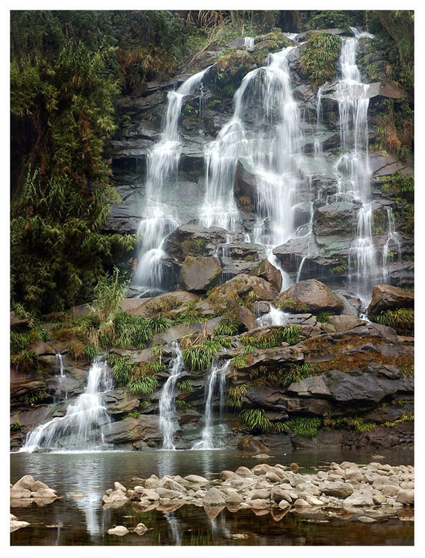
M281 29L348 29L353 24L374 33L373 49L383 52L380 60L369 53L370 76L385 75L411 87L413 13L406 10L314 10L304 23L296 10L13 11L14 308L19 303L31 312L49 312L91 299L98 278L137 241L101 232L117 201L103 151L121 123L116 110L121 93L139 95L148 80L176 71L196 53L254 36L254 52L241 54L236 66L226 51L217 63L212 89L231 96L236 78L261 63L266 51L286 44ZM311 83L332 77L338 41L323 34L309 37L304 47L309 56L302 64ZM380 149L407 159L413 140L410 100L387 101L376 124Z

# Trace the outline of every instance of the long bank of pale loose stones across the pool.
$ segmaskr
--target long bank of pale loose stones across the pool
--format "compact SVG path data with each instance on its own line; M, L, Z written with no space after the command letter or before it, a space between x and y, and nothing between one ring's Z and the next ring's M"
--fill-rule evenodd
M267 458L267 455L263 456ZM279 520L286 513L323 513L330 517L362 513L362 521L373 522L400 514L413 519L415 469L411 465L371 462L332 462L315 474L300 472L294 463L286 467L261 463L252 469L224 470L220 478L165 475L133 478L134 486L114 483L102 497L102 507L131 504L134 510L164 513L182 506L203 507L215 518L225 507L236 512L252 509L256 515L272 513Z

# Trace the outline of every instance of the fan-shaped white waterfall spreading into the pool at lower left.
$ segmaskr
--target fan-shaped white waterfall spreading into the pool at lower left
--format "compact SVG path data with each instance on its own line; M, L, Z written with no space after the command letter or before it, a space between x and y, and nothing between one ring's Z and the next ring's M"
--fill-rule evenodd
M65 416L52 418L31 430L20 451L31 453L36 449L65 447L91 451L105 446L104 426L111 419L102 405L101 394L111 389L113 382L107 363L97 356L88 371L84 393L68 405Z

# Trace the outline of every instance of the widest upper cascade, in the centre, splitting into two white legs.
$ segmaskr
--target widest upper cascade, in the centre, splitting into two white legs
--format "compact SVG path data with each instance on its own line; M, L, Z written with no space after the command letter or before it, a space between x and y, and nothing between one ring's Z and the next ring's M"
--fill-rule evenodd
M302 133L288 70L294 48L269 54L266 66L243 78L231 121L206 148L206 196L200 211L200 223L206 227L238 227L233 182L238 158L245 157L256 174L258 218L253 240L267 248L274 265L272 249L294 234L296 193L305 178L297 158ZM281 273L282 288L288 288L291 280Z

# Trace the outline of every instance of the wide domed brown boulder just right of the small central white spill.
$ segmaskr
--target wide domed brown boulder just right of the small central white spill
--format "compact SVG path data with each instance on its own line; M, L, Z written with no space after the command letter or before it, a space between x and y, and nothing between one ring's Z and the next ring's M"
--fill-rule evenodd
M343 311L343 301L339 296L316 279L295 283L295 285L279 294L273 303L281 308L286 308L288 304L294 303L295 311L300 309L302 312L311 312L312 314L318 314L318 312L339 314Z

